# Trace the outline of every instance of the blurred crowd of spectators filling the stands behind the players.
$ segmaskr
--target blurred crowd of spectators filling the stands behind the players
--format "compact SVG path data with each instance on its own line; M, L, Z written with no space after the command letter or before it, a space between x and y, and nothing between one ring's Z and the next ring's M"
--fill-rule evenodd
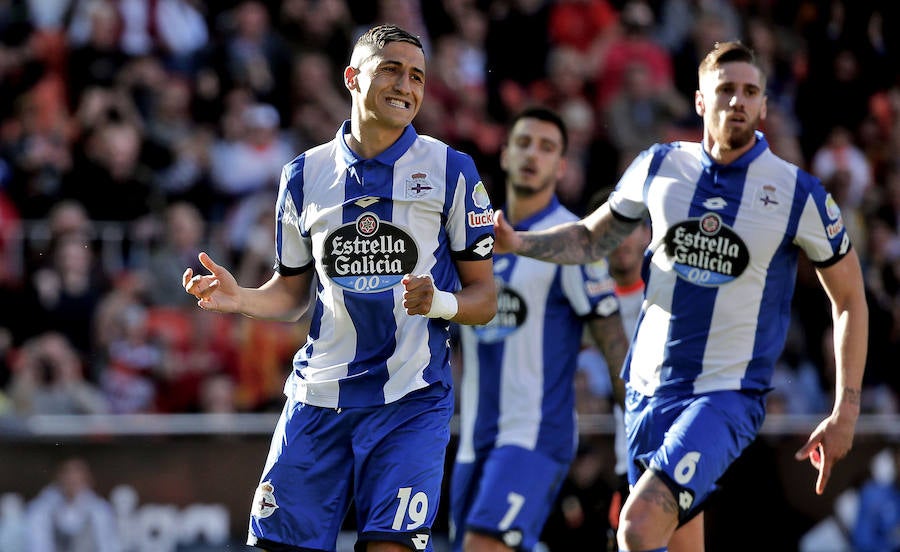
M584 214L649 145L699 138L699 57L740 38L768 73L772 150L833 194L869 296L864 412L900 411L900 4L892 0L0 0L0 415L280 409L306 327L209 316L200 250L271 273L281 167L349 112L346 52L393 22L428 54L415 126L473 156L495 206L504 125L570 132ZM770 407L831 404L809 266ZM608 397L582 382L583 412Z

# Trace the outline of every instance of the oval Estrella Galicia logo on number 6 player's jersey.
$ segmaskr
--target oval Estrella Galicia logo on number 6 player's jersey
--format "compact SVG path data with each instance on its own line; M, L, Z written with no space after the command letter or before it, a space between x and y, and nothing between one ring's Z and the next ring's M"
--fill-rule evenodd
M675 272L701 286L720 286L746 270L750 252L744 240L716 213L674 224L665 237Z

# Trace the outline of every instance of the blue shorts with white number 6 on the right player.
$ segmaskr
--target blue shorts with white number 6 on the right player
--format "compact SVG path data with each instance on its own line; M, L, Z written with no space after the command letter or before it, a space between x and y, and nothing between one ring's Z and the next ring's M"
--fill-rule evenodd
M765 395L716 391L689 397L625 396L628 482L653 470L672 489L683 522L699 511L716 481L756 438Z

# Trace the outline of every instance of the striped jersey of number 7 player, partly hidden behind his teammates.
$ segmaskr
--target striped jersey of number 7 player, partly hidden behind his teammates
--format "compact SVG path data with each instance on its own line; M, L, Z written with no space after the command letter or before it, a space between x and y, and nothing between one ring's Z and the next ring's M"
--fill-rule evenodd
M516 225L543 230L577 220L554 198ZM568 462L577 445L574 373L583 320L618 312L606 262L557 265L494 256L497 315L460 328L460 442L457 460L503 445Z

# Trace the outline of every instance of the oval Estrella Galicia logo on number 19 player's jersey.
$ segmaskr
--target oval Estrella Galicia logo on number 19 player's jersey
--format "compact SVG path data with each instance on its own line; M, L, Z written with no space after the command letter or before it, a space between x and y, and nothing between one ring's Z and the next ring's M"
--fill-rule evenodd
M419 249L398 226L366 212L325 238L322 265L339 287L359 293L391 288L416 266Z

